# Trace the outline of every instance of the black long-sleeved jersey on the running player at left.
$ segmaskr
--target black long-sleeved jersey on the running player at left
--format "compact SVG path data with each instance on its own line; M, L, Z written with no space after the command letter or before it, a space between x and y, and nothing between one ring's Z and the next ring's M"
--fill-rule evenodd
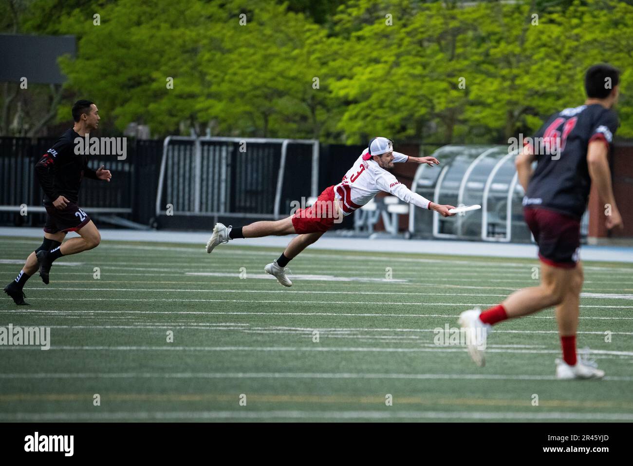
M88 167L88 156L75 153L76 138L84 139L73 128L68 129L35 165L35 174L46 195L44 202L63 196L76 203L82 178L99 179L96 171Z

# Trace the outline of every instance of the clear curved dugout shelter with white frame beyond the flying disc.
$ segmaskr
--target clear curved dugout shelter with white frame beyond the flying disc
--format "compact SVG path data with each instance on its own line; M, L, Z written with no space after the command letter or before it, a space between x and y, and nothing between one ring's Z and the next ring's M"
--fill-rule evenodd
M523 221L523 188L517 179L517 152L508 146L449 145L433 157L440 165L420 165L411 190L437 204L479 204L480 210L442 217L411 206L409 231L423 238L530 242Z

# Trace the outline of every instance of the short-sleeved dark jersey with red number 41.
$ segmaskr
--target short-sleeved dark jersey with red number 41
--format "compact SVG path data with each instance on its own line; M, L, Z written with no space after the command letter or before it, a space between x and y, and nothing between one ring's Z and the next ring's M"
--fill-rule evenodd
M615 112L599 104L565 108L549 117L533 139L537 165L523 205L582 217L591 188L589 142L601 139L610 145L617 127Z

